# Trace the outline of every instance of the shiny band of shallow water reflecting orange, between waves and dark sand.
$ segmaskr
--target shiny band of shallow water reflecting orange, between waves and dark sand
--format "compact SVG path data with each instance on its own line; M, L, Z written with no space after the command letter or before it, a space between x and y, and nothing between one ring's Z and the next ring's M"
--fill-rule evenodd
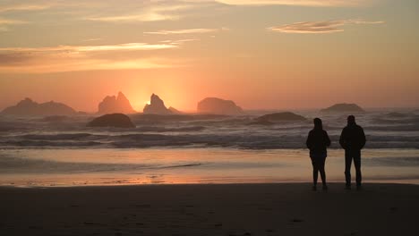
M329 150L329 181L344 181ZM235 148L4 149L0 185L80 186L311 181L307 150ZM419 150L365 149L365 181L419 183Z

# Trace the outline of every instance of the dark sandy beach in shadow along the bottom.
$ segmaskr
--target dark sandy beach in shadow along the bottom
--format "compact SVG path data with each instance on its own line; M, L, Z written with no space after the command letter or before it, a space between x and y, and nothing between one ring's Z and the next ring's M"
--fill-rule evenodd
M417 235L419 186L0 188L2 235Z

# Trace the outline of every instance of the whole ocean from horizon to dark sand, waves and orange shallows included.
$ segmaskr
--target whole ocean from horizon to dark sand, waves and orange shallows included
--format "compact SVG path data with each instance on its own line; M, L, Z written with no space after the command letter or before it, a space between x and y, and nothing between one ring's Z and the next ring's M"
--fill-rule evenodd
M94 116L0 116L0 185L19 187L312 181L305 139L320 117L332 145L329 181L344 181L346 115L295 111L306 122L251 125L244 116L132 115L133 129L89 128ZM356 115L363 180L419 183L419 111ZM355 174L353 174L355 175Z

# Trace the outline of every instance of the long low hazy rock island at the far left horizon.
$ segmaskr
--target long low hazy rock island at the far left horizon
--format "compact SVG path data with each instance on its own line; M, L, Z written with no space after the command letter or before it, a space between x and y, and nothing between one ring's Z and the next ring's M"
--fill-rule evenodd
M0 114L9 115L74 115L77 112L70 106L50 101L38 104L30 98L21 100L17 105L6 107Z

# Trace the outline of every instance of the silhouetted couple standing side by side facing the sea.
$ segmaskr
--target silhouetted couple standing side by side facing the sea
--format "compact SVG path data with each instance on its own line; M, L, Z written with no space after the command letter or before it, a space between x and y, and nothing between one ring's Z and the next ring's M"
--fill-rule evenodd
M310 158L312 159L312 190L317 190L317 179L321 173L321 182L323 190L328 190L326 183L326 172L324 164L328 156L327 147L330 146L330 139L327 131L323 130L323 124L320 118L315 118L314 128L309 132L306 145L310 149ZM340 135L339 143L345 149L345 179L346 190L351 189L351 165L354 160L356 172L356 188L361 189L361 149L365 145L366 139L363 128L356 124L355 116L347 117L347 125Z

